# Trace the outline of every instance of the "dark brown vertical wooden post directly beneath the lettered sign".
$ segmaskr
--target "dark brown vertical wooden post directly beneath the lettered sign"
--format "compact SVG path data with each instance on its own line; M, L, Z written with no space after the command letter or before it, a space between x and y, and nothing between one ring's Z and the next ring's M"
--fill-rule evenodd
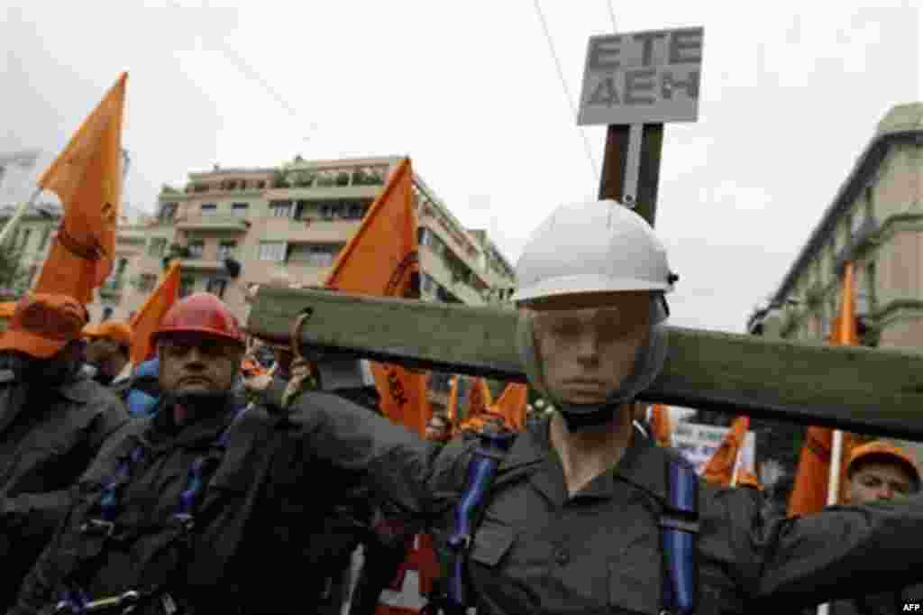
M629 159L629 126L609 125L605 133L603 175L599 198L622 201ZM657 187L660 181L660 157L664 145L664 125L645 124L641 137L641 168L638 196L634 211L653 226L657 212Z

